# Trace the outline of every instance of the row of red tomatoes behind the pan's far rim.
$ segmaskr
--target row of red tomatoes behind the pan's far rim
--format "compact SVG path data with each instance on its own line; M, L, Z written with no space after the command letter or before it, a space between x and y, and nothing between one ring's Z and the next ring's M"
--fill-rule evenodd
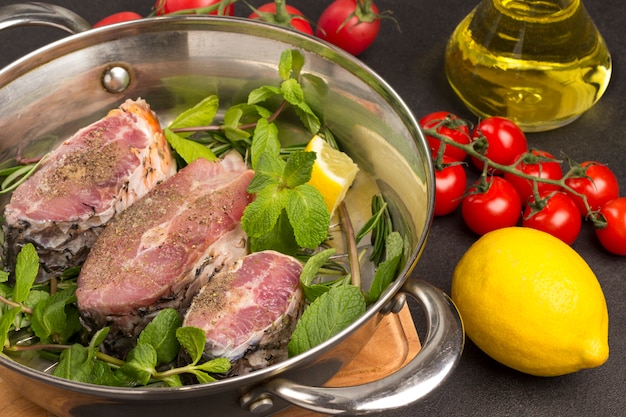
M234 4L239 0L156 0L154 14L206 13L234 16ZM285 0L275 0L258 8L251 8L249 19L264 20L296 29L353 54L359 55L374 42L380 31L383 15L372 0L332 0L314 25L297 8ZM97 22L94 27L141 19L133 11L122 11Z

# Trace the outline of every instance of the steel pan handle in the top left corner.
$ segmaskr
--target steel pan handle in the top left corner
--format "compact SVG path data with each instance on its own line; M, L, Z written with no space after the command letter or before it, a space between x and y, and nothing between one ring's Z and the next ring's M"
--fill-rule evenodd
M72 34L91 29L85 19L54 4L31 2L0 7L0 30L30 25L55 27Z

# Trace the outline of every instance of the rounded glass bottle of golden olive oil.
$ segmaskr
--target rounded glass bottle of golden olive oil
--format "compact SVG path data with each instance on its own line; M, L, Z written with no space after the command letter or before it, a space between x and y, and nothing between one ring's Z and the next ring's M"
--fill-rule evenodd
M611 56L581 0L483 0L450 38L445 70L477 116L544 131L600 99Z

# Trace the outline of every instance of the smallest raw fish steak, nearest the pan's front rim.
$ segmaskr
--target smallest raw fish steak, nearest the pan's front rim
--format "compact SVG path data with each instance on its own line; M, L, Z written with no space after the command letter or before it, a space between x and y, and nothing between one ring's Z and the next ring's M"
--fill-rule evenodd
M231 376L285 360L302 312L301 272L297 259L279 252L247 255L200 290L183 325L204 330L205 358L228 358Z

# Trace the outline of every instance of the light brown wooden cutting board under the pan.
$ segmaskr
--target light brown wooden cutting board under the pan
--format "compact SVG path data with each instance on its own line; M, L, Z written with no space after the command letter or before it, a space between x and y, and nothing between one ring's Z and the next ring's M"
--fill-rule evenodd
M380 323L369 343L344 369L335 375L328 386L363 384L383 378L401 368L420 350L420 341L407 306L397 314L390 314ZM22 397L0 379L0 414L2 417L55 417L38 405ZM315 417L321 414L300 408L289 408L277 417Z

